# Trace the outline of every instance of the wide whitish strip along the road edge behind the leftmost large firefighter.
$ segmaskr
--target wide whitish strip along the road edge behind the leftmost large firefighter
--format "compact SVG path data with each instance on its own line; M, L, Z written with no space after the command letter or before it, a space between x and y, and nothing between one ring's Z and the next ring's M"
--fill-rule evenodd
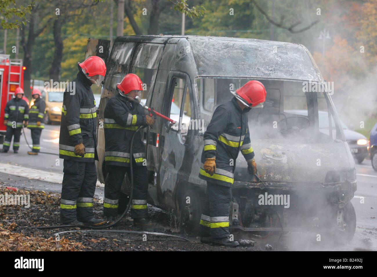
M61 173L49 172L12 164L0 163L0 172L56 184L61 184L61 182L63 182L63 174ZM96 185L98 187L104 187L104 185L101 184L101 182L98 180Z

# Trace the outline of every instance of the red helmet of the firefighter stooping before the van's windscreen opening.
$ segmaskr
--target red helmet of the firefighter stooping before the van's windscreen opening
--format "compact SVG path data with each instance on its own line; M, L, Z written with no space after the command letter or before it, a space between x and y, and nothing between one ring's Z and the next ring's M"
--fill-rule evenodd
M266 89L264 85L257 81L251 80L244 84L242 87L232 92L236 98L248 107L263 107L263 102L266 100Z

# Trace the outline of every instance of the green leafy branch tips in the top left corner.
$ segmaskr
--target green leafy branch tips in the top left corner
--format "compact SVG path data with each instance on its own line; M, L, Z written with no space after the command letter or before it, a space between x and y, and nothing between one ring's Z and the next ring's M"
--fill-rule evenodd
M14 7L13 7L14 6ZM0 13L5 19L1 20L0 25L3 29L14 29L19 28L21 24L26 24L26 14L31 13L31 9L34 6L34 2L31 2L26 6L16 7L15 0L1 0L0 1ZM14 22L8 22L10 19L17 17Z

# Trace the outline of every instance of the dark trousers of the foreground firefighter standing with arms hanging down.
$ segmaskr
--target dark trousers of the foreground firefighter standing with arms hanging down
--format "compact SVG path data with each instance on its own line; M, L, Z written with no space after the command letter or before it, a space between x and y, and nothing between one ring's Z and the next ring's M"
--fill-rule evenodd
M94 162L64 160L64 176L61 187L60 221L85 222L93 216L93 196L97 183Z

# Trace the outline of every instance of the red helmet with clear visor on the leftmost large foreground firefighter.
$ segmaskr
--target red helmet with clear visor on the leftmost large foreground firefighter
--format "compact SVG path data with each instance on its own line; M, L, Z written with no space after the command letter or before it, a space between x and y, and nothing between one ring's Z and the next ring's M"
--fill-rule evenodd
M100 86L105 78L106 65L105 62L98 56L91 56L78 65L83 70L86 78L92 81L93 84Z

